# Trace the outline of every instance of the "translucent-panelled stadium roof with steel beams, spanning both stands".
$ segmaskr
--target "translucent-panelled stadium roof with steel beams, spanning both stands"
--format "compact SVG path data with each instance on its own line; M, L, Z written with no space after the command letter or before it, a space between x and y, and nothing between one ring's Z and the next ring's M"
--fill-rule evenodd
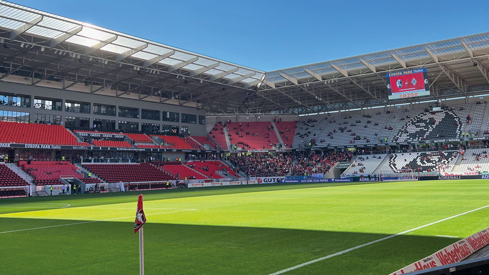
M489 33L263 72L0 1L0 80L206 108L310 114L389 101L385 74L427 68L431 95L489 90ZM417 98L414 100L420 100Z

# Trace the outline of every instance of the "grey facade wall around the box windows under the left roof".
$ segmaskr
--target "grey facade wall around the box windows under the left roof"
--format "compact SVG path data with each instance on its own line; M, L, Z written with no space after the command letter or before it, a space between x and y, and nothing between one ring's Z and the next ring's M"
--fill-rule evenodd
M198 116L205 116L204 109L197 109L194 107L185 107L178 106L172 104L164 104L159 102L149 102L142 101L138 99L128 99L128 98L120 98L114 96L106 96L106 95L98 95L98 94L90 94L86 92L76 92L76 91L67 91L61 89L52 89L46 87L37 87L32 85L22 85L15 84L11 82L0 82L0 93L10 93L17 95L29 95L31 96L31 107L13 107L13 106L3 106L0 105L0 110L3 111L16 111L16 112L29 112L32 114L48 114L48 115L57 115L62 116L62 121L65 121L65 117L79 117L79 118L89 118L90 125L93 125L93 119L104 119L104 120L115 120L116 121L116 129L118 128L118 122L120 121L128 121L128 122L138 122L139 130L141 130L142 123L154 123L154 124L165 124L165 125L177 125L179 127L186 126L191 131L192 135L206 135L205 125L201 124L189 124L189 123L181 123L181 122L167 122L162 120L147 120L141 119L141 109L150 109L157 110L161 112L176 112L180 113L180 121L182 119L182 114L192 114ZM43 98L52 98L52 99L61 99L63 111L51 111L45 109L36 109L34 108L34 97L43 97ZM78 101L78 102L89 102L91 108L91 114L79 114L79 113L71 113L64 111L64 104L66 100L69 101ZM101 116L101 115L93 115L93 104L106 104L106 105L116 105L116 116ZM132 107L140 109L140 118L122 118L118 117L119 106L121 107Z

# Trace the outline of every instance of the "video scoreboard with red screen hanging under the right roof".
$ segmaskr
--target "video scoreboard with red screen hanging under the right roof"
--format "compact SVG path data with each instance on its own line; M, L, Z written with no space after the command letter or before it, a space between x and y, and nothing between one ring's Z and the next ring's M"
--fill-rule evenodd
M389 99L429 95L426 68L386 74Z

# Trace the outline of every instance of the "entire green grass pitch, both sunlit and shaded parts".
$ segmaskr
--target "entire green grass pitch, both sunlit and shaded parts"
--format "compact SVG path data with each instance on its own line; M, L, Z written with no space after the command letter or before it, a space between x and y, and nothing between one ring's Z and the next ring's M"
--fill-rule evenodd
M139 194L0 200L0 273L138 274L133 223ZM489 181L143 194L146 274L266 275L489 205ZM389 274L487 226L489 207L285 274Z

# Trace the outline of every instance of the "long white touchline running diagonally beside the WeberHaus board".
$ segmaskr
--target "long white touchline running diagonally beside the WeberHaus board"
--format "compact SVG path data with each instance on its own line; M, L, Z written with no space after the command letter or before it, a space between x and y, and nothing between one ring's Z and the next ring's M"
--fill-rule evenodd
M402 231L400 233L397 233L397 234L393 234L393 235L390 235L390 236L387 236L387 237L384 237L384 238L381 238L381 239L378 239L378 240L374 240L374 241L370 241L370 242L367 242L367 243L364 243L364 244L360 244L360 245L357 245L353 248L349 248L349 249L346 249L346 250L343 250L343 251L340 251L340 252L337 252L335 254L331 254L331 255L328 255L328 256L324 256L324 257L321 257L321 258L318 258L318 259L315 259L315 260L312 260L312 261L309 261L309 262L305 262L305 263L302 263L302 264L298 264L298 265L294 265L292 267L289 267L289 268L286 268L286 269L282 269L280 271L277 271L275 273L271 273L269 275L278 275L278 274L282 274L282 273L285 273L285 272L288 272L288 271L291 271L291 270L294 270L294 269L297 269L297 268L301 268L303 266L306 266L306 265L310 265L310 264L313 264L313 263L317 263L319 261L322 261L322 260L326 260L326 259L329 259L329 258L333 258L335 256L339 256L339 255L342 255L342 254L345 254L345 253L348 253L350 251L354 251L354 250L357 250L357 249L360 249L360 248L363 248L367 245L370 245L370 244L374 244L374 243L377 243L377 242L381 242L383 240L387 240L387 239L390 239L390 238L394 238L396 236L399 236L399 235L403 235L403 234L406 234L406 233L409 233L409 232L413 232L415 230L418 230L418 229L421 229L421 228L425 228L425 227L428 227L428 226L431 226L431 225L434 225L434 224L438 224L438 223L441 223L441 222L445 222L445 221L448 221L449 219L452 219L452 218L455 218L455 217L459 217L459 216L462 216L462 215L465 215L465 214L468 214L468 213L472 213L472 212L475 212L477 210L481 210L481 209L484 209L484 208L487 208L489 207L489 205L486 205L486 206L482 206L482 207L479 207L479 208L476 208L476 209L473 209L473 210L469 210L467 212L464 212L464 213L460 213L460 214L456 214L456 215L453 215L451 217L447 217L447 218L443 218L443 219L440 219L439 221L436 221L436 222L432 222L432 223L429 223L429 224L426 224L426 225L422 225L422 226L418 226L416 228L413 228L413 229L410 229L410 230L406 230L406 231Z

